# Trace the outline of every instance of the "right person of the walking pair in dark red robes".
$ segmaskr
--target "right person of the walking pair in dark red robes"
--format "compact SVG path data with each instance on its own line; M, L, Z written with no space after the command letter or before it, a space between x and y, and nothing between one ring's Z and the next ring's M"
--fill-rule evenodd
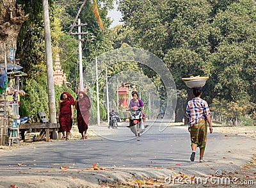
M82 135L81 139L86 139L91 103L90 98L83 91L79 91L78 98L75 102L75 107L77 109L77 127Z

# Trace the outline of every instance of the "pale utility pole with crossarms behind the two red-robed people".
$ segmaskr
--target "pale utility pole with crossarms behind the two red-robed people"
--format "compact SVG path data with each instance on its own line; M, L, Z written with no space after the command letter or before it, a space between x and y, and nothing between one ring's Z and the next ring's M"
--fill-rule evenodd
M78 24L72 25L72 27L78 27L78 33L70 32L70 35L78 35L78 51L79 51L79 87L80 91L84 91L84 81L83 81L83 52L82 52L82 36L88 34L88 32L81 32L81 26L87 26L87 24L81 24L81 20L78 19Z

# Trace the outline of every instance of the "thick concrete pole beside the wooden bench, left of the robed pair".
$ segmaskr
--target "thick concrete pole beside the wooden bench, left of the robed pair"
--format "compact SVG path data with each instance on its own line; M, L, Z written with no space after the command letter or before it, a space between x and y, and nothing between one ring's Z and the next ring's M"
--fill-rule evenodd
M47 88L49 99L49 114L50 122L56 122L56 106L55 106L55 91L54 91L54 77L52 68L52 49L51 49L51 33L50 33L50 21L49 21L49 7L48 0L43 0L44 11L44 35L45 35L45 56L47 67ZM48 140L46 138L46 140Z

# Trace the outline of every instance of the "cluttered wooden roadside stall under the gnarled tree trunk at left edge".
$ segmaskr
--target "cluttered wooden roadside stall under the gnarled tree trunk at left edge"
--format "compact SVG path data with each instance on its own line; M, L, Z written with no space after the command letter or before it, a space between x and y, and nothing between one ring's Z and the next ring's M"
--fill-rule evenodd
M1 145L19 144L19 97L25 95L19 90L19 82L26 74L21 71L22 67L12 63L2 63L0 68Z

